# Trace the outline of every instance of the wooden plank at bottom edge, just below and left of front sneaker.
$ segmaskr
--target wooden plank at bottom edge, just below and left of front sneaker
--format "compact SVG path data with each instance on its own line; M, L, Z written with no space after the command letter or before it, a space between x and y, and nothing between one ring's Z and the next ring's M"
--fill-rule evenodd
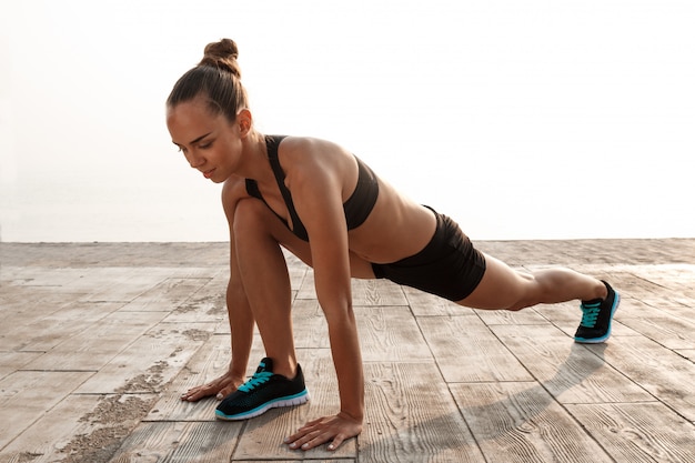
M110 462L229 462L242 426L221 421L141 423Z

